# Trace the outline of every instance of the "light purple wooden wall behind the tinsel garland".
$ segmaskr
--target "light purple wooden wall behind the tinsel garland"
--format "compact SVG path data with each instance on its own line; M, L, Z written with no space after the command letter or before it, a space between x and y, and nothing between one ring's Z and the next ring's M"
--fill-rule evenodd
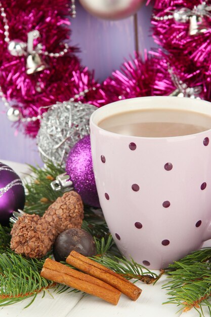
M80 48L81 63L95 69L95 78L103 81L124 59L135 51L134 18L106 21L91 16L78 2L77 16L71 20L71 45ZM150 32L151 8L144 5L138 12L139 50L154 47ZM0 161L9 160L32 165L42 165L36 140L15 131L0 103Z

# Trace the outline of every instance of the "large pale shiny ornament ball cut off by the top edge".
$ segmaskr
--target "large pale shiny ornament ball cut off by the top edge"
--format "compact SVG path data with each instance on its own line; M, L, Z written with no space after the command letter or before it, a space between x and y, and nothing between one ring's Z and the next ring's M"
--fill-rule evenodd
M107 20L120 20L135 14L144 0L79 0L90 14Z

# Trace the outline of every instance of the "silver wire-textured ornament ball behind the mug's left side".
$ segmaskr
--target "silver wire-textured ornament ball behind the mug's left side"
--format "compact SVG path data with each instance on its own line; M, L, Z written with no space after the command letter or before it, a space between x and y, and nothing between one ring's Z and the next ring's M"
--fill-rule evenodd
M90 116L96 106L80 102L58 102L44 113L37 134L37 146L43 162L65 167L74 144L90 133Z

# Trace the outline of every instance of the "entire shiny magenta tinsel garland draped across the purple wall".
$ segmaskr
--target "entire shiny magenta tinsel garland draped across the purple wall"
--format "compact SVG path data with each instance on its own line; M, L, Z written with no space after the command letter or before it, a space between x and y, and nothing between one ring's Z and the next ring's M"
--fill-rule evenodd
M149 1L148 1L149 3ZM153 14L163 17L176 9L193 9L199 0L155 0ZM210 4L207 1L207 4ZM70 36L67 0L6 0L2 1L8 17L10 39L27 41L27 33L39 30L41 43L49 52L59 52ZM102 106L119 99L150 95L169 95L177 87L169 73L171 68L187 87L202 87L201 98L211 100L211 19L205 17L207 31L189 35L189 21L175 19L158 21L152 18L155 42L164 51L138 53L122 63L102 85L96 83L93 72L80 65L75 56L77 48L70 47L63 57L43 57L49 68L26 74L26 58L12 56L5 43L4 24L0 19L0 85L11 105L17 106L22 116L32 117L48 110L57 101L65 101L75 94L90 89L78 100ZM210 26L210 28L209 28ZM167 53L166 53L167 52ZM92 90L95 87L96 90ZM21 122L18 123L19 125ZM39 121L23 124L25 133L36 136Z

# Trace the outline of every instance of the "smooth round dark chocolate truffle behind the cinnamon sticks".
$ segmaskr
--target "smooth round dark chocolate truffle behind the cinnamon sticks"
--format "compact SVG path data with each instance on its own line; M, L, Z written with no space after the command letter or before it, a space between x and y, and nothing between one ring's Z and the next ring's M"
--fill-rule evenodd
M71 228L60 233L54 244L55 260L65 261L72 250L84 256L96 255L92 235L80 228Z

